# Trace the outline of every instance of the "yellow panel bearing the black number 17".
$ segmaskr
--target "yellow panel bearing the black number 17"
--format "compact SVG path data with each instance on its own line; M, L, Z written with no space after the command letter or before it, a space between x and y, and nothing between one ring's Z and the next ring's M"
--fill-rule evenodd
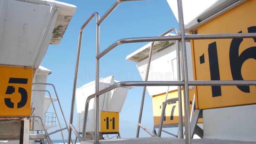
M181 92L182 100L183 99L183 90ZM152 97L153 102L153 115L154 115L154 125L160 124L160 117L162 114L162 108L163 108L163 102L165 101L166 94L162 94L159 96ZM177 98L178 97L178 91L172 91L168 93L167 99ZM190 111L192 108L192 101L194 97L194 90L189 90L189 101L190 101ZM183 101L182 101L183 103ZM182 115L184 117L184 105L182 104ZM199 119L199 123L202 123L203 120ZM183 119L184 123L184 119ZM168 104L165 109L165 120L163 124L179 124L179 103L176 101L176 103L172 102L172 104Z

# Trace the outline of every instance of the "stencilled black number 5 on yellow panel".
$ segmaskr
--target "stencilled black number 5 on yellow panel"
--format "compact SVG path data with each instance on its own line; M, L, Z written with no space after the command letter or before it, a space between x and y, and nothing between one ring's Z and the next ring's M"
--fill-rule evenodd
M28 79L27 78L10 77L9 84L28 84ZM12 94L13 92L15 92L15 87L7 86L5 94ZM26 103L28 101L28 93L22 87L18 88L18 92L21 95L21 100L20 100L20 102L17 103L17 108L22 108L26 105ZM11 101L11 98L4 98L4 103L8 108L14 108L14 103Z

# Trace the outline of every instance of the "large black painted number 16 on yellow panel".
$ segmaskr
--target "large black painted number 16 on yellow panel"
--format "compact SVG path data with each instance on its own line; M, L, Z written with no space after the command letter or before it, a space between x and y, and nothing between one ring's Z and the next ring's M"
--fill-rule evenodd
M242 33L242 31L238 32ZM249 27L248 33L256 33L256 26ZM256 38L253 38L256 43ZM233 80L244 80L241 73L241 68L245 60L256 60L256 47L249 47L239 55L239 46L242 43L243 38L233 38L229 48L229 62ZM220 70L217 54L216 42L209 44L209 66L211 80L220 80ZM200 56L200 64L204 63L204 53ZM249 93L249 86L237 86L242 92ZM221 87L212 86L212 97L221 96Z

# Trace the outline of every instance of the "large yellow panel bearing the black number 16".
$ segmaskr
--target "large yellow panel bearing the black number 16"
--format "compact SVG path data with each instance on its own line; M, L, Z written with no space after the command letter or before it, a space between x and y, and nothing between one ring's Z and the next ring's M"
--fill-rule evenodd
M194 29L198 34L255 33L256 1L247 2ZM193 40L196 80L256 80L256 39ZM210 61L209 61L210 60ZM198 108L256 103L254 86L197 86Z

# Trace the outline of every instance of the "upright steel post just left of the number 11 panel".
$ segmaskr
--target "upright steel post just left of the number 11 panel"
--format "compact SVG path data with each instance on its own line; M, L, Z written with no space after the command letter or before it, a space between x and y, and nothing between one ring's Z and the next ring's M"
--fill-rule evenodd
M95 56L95 93L99 91L100 59L96 57L100 53L100 25L96 24L96 56ZM99 95L95 95L95 141L99 143Z

